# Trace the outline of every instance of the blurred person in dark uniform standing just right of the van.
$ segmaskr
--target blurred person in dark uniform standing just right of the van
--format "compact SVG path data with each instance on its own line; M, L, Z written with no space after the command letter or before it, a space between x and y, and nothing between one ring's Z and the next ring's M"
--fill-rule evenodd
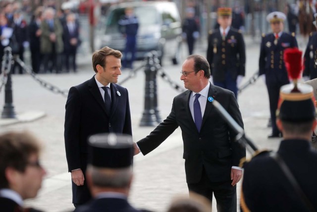
M195 40L199 37L199 26L195 20L195 10L192 7L186 9L186 18L183 21L183 38L187 41L188 53L193 54Z

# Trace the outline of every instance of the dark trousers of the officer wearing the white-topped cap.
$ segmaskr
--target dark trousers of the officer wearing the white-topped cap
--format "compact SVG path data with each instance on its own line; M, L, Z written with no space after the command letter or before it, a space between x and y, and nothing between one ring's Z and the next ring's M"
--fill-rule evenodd
M276 110L277 110L277 104L279 99L279 90L281 88L282 84L276 84L276 85L268 85L266 84L267 92L268 92L268 98L269 98L269 111L271 114L271 120L272 120L272 134L278 135L280 131L277 129L276 126Z

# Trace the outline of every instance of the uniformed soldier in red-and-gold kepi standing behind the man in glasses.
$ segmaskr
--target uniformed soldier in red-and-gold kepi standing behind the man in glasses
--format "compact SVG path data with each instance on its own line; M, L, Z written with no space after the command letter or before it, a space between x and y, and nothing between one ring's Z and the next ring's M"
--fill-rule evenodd
M207 60L214 85L229 89L237 98L240 82L245 75L246 51L240 31L231 28L231 8L218 8L218 29L210 32Z

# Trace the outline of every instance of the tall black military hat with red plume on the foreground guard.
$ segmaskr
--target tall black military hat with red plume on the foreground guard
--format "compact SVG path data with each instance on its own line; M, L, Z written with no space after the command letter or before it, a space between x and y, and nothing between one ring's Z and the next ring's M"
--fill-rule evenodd
M316 115L313 87L298 83L303 69L302 52L297 48L288 48L284 51L284 61L293 83L281 87L276 115L280 120L287 122L312 121Z

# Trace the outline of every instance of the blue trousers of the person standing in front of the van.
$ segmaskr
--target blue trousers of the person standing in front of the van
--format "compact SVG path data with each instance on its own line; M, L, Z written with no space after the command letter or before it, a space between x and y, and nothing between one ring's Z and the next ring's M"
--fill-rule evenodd
M132 68L132 63L135 60L136 53L136 36L127 35L127 41L124 49L124 58L122 61L123 68Z

